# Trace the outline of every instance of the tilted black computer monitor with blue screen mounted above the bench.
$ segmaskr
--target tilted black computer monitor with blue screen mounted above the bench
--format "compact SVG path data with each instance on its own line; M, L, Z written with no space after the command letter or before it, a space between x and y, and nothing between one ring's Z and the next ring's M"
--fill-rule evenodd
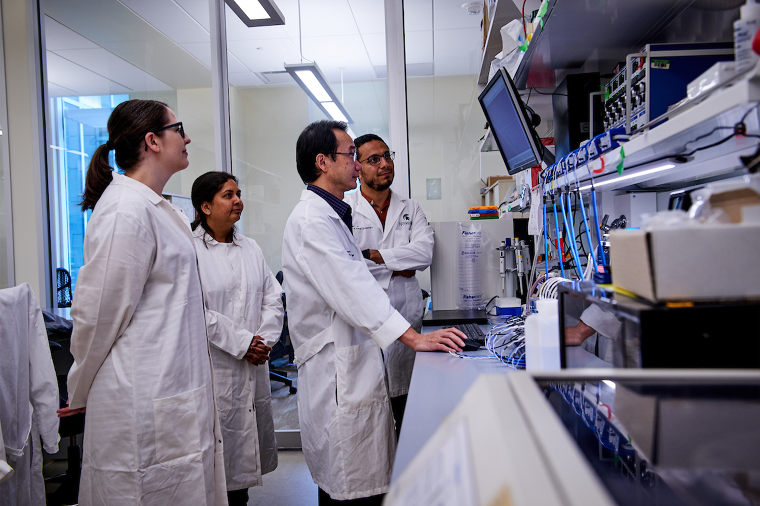
M530 124L517 86L507 71L500 68L478 96L491 125L491 132L509 174L517 174L541 162L543 146Z

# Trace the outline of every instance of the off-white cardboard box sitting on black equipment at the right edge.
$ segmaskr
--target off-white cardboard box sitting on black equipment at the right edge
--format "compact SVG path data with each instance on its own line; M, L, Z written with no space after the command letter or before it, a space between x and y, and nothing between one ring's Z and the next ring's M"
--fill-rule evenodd
M760 297L760 224L610 233L613 284L654 302Z

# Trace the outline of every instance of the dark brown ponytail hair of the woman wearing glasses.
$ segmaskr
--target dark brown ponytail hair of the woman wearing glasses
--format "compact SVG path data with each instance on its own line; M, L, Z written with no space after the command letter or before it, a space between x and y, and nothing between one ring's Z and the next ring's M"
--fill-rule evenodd
M108 142L98 146L90 159L87 178L82 193L82 211L95 209L95 204L103 191L113 181L112 168L108 164L108 153L114 150L116 165L129 172L140 162L145 134L160 130L166 123L169 106L158 100L128 100L116 105L108 118Z

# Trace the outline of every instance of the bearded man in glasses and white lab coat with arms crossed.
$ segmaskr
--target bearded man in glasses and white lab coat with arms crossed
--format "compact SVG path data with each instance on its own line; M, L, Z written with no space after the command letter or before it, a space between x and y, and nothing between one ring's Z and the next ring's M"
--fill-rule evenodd
M432 228L416 200L391 191L394 152L385 141L366 134L353 143L356 159L362 164L359 190L344 199L351 206L353 238L391 305L420 332L423 297L414 273L427 269L432 262ZM383 351L397 434L401 432L414 355L413 349L398 341Z

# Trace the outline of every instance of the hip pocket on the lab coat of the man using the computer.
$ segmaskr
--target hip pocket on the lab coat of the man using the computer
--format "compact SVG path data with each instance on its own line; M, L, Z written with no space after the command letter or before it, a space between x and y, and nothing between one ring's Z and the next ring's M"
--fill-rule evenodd
M388 402L385 367L375 341L335 348L337 409L341 413Z

